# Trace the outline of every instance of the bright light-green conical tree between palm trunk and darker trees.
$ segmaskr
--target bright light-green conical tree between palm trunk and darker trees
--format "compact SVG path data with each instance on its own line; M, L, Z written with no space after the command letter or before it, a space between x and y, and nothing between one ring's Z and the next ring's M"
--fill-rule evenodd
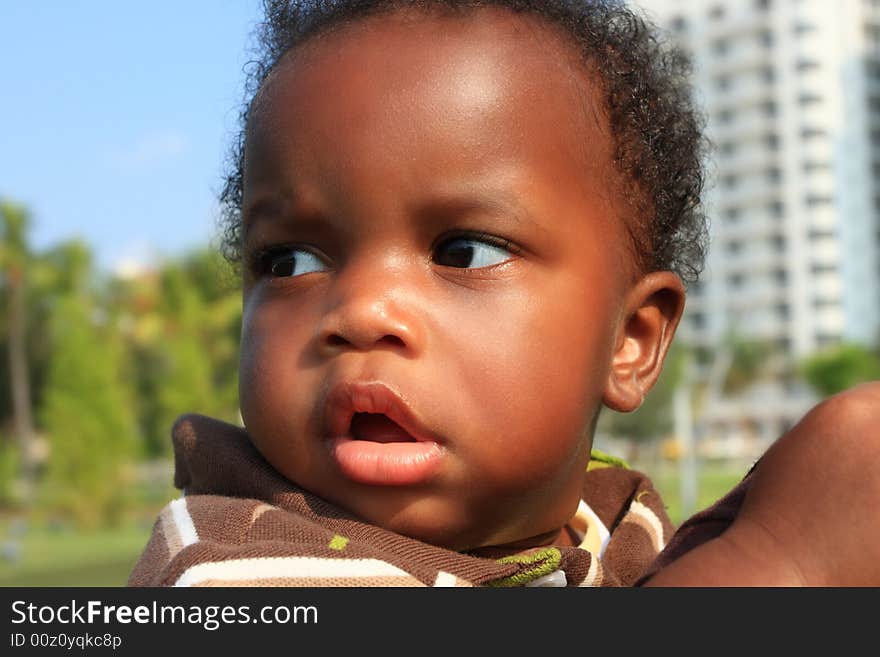
M85 287L84 249L71 251L68 281L51 316L51 364L42 406L50 455L44 500L83 526L118 520L137 430L125 353L106 312Z

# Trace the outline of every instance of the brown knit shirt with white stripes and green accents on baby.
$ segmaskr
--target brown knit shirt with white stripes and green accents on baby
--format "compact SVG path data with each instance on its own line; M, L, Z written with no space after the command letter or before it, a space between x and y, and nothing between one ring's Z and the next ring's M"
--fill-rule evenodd
M495 558L367 524L277 473L239 427L175 424L175 485L130 586L628 586L672 536L643 474L591 461L577 547Z

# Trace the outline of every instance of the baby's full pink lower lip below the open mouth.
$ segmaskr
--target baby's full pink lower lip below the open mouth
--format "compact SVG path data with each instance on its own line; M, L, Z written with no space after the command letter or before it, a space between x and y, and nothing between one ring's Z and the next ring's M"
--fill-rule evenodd
M443 448L433 441L374 442L334 438L330 453L347 478L371 486L412 486L440 467Z

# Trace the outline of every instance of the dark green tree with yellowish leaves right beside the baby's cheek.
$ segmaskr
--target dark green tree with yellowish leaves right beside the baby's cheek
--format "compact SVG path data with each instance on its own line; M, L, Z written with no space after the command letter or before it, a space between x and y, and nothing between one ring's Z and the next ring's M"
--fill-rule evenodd
M236 421L241 293L219 254L199 249L167 260L116 281L113 294L129 327L148 455L170 452L181 413Z

